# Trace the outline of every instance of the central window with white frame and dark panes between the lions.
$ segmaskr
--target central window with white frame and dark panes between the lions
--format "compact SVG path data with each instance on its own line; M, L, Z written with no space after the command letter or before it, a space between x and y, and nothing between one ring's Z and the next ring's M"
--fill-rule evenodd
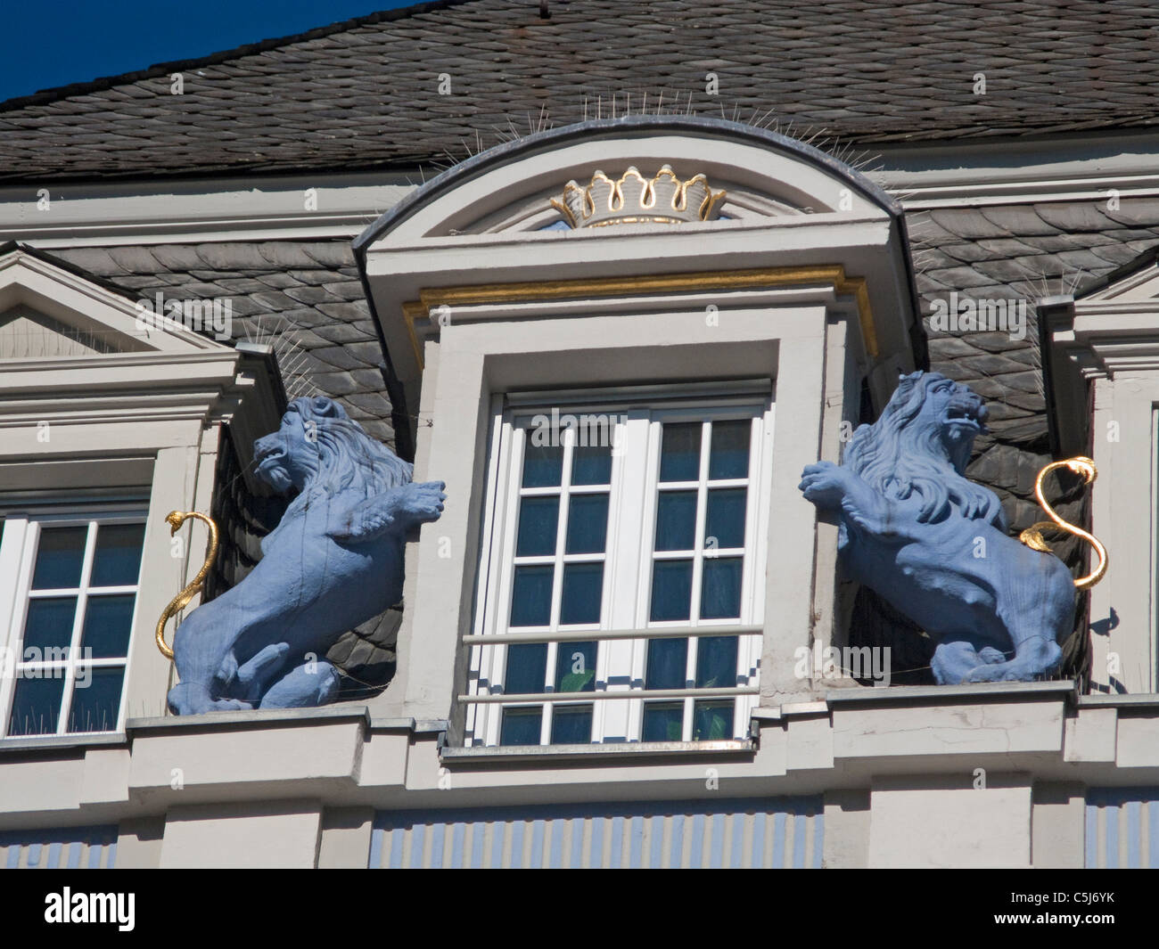
M498 424L468 744L744 737L764 620L767 397Z

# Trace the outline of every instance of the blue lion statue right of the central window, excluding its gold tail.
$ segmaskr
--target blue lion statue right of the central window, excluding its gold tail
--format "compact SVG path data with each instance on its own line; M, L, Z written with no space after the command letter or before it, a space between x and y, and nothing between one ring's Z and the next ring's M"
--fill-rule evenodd
M1009 536L998 496L963 475L985 419L967 386L905 375L841 465L809 465L800 484L838 516L846 572L938 643L940 684L1049 676L1073 622L1065 564Z

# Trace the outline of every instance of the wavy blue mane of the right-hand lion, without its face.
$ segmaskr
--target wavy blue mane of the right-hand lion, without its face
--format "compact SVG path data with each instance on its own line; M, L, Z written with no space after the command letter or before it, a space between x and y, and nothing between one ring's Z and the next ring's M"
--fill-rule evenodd
M853 433L843 463L883 497L920 498L920 524L956 516L1005 531L998 496L963 477L946 453L941 426L921 415L927 390L942 381L945 377L930 372L903 377L881 417Z

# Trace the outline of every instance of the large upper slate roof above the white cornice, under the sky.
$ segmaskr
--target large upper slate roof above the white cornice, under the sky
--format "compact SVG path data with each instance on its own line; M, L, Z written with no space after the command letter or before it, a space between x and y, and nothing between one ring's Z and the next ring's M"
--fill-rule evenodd
M590 117L640 111L646 93L649 110L663 93L669 110L771 111L865 144L1157 122L1159 8L1146 2L547 8L425 3L12 100L0 104L0 181L413 167L464 158L476 131L491 145L512 126L577 122L585 100ZM182 95L170 95L173 72Z

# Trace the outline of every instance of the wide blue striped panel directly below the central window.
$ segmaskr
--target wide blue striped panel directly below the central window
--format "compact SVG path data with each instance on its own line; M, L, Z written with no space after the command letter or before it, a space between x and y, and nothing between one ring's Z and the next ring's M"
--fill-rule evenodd
M529 869L819 868L824 815L819 797L799 797L395 811L374 820L374 868L496 868L504 859Z

